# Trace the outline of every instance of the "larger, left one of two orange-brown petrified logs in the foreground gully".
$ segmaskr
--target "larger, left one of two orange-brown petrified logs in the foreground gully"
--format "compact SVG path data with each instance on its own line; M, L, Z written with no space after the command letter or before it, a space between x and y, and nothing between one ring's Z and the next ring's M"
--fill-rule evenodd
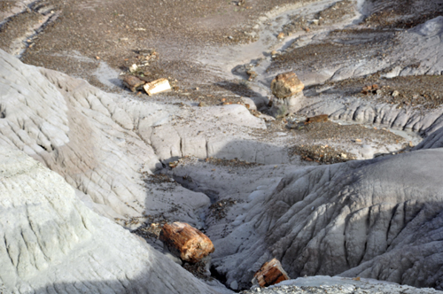
M169 251L183 261L195 263L214 252L211 239L184 222L165 224L159 238L167 245Z

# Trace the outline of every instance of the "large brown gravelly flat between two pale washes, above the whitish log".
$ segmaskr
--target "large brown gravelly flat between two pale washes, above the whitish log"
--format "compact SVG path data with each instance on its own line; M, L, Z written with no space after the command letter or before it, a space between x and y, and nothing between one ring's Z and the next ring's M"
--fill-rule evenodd
M255 0L238 6L237 1L218 0L162 0L149 4L143 0L48 0L43 4L53 6L58 19L35 38L22 60L89 80L90 67L84 68L79 59L67 61L72 52L90 59L98 57L113 68L122 68L128 66L124 60L131 58L134 50L154 47L165 62L171 62L169 67L175 72L186 72L190 66L185 61L195 63L193 57L199 48L249 43L253 38L248 34L263 12L291 2ZM8 9L9 2L2 4ZM23 26L31 22L35 21L21 21ZM7 48L7 40L4 41L2 48ZM95 69L98 62L89 66ZM195 76L190 72L187 77L191 80Z

